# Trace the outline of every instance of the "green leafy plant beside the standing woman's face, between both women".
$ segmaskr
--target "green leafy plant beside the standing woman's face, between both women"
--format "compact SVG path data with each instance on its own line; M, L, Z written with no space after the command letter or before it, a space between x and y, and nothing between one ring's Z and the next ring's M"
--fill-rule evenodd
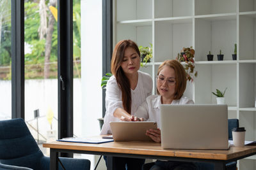
M152 58L152 43L150 43L150 47L148 46L139 46L140 50L140 57L141 57L141 67L144 67L147 65L148 62L150 62L150 59Z

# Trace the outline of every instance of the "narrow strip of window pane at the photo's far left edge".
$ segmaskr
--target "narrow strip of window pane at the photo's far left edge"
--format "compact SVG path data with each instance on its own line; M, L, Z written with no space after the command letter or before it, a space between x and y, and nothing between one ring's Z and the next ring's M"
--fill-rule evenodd
M12 118L11 1L0 1L0 120Z

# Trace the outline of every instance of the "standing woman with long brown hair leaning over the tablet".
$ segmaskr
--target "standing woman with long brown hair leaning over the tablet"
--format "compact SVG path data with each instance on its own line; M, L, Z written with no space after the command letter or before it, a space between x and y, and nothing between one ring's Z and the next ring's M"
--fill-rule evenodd
M101 134L112 134L109 122L138 121L134 112L152 94L152 78L140 69L140 50L131 40L119 41L111 59L106 85L106 114ZM106 160L106 157L104 157ZM115 157L116 169L141 169L145 159Z

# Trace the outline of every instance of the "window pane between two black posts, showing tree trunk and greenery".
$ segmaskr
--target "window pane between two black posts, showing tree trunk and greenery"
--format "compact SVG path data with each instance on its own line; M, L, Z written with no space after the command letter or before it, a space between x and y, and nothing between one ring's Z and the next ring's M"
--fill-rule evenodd
M39 146L58 136L56 4L57 0L24 4L25 120Z

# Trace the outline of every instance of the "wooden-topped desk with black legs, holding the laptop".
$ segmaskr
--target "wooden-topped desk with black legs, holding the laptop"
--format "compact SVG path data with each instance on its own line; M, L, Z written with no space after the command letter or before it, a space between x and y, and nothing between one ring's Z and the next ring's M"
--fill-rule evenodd
M108 155L108 169L113 169L113 157L211 162L215 164L215 169L225 169L225 164L228 162L256 154L255 146L230 146L229 150L163 150L160 143L153 142L88 144L53 141L44 143L43 146L51 148L51 170L58 169L58 152Z

